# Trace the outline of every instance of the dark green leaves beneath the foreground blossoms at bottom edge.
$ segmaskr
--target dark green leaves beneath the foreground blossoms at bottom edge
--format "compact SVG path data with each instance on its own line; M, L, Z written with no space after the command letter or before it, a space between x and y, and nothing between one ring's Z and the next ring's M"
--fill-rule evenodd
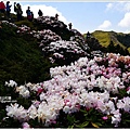
M53 128L107 128L113 127L110 125L110 117L107 120L103 120L104 115L99 113L94 108L81 107L79 112L73 114L65 114L61 110L56 120L56 125L52 125Z

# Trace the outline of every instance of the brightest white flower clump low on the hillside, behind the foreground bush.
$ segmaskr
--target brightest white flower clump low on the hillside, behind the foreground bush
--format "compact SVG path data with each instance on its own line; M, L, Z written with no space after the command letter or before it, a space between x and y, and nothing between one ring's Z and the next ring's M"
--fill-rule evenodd
M87 55L87 52L84 52L80 47L79 43L76 41L65 41L65 40L58 40L53 41L50 44L42 48L42 51L44 53L51 54L51 62L54 63L55 60L66 60L69 55L69 58L74 58L74 54L76 55Z

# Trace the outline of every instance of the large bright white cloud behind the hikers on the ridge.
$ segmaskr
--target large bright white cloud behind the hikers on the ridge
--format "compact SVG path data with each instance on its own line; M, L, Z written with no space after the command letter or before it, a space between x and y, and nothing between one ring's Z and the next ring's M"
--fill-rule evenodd
M13 4L13 2L11 2L11 4L12 4L11 11L12 11L12 13L14 13L14 6L13 6L14 4ZM21 4L21 2L20 2L20 4ZM23 16L27 15L26 14L27 6L30 6L30 11L32 11L35 17L38 17L38 11L40 9L43 12L44 16L47 16L47 15L48 16L55 16L55 14L57 13L58 14L58 20L64 22L65 24L68 24L67 20L63 16L63 14L60 11L57 11L53 6L47 6L44 4L38 4L38 5L25 4L25 5L22 5Z

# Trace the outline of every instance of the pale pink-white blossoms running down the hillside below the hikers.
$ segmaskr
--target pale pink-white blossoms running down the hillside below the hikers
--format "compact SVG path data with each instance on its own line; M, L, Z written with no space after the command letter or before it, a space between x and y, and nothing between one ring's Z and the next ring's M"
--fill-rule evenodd
M63 22L60 22L54 17L40 16L36 21L42 24L49 24L52 27L58 26L60 28L66 28L66 25L64 25ZM30 27L26 25L17 27L17 32L30 34L38 39L39 47L42 48L44 54L49 54L51 63L58 62L60 58L68 61L68 54L69 58L72 60L74 58L74 54L76 54L77 57L79 57L80 55L87 55L87 52L83 50L87 50L88 46L84 44L83 36L76 29L73 29L72 31L75 34L75 36L70 38L70 41L65 41L62 40L62 38L58 35L56 35L50 29L35 31L30 30Z

